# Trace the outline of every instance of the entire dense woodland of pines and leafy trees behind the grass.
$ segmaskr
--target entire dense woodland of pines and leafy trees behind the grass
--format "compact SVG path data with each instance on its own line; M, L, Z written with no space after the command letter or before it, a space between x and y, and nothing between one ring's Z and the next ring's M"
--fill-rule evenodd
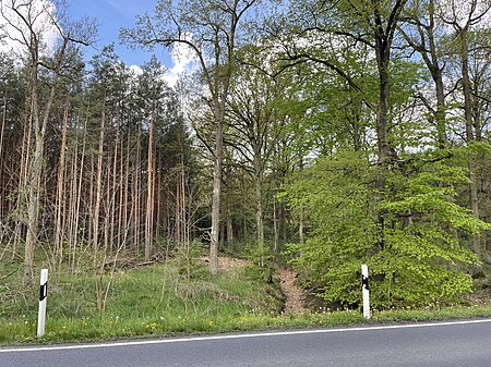
M38 252L97 276L202 243L212 273L260 254L339 306L368 264L391 308L491 260L489 0L159 0L120 38L187 48L173 87L85 57L96 23L61 1L0 3L0 257L26 284Z

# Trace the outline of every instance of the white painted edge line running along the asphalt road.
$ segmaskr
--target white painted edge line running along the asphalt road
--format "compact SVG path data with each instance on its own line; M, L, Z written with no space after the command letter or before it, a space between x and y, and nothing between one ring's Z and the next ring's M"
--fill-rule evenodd
M103 347L118 347L118 346L133 346L133 345L148 345L148 344L168 344L168 343L188 343L227 339L243 339L243 338L262 338L262 337L288 337L301 334L323 334L348 331L373 331L387 329L409 329L409 328L435 328L457 325L471 323L491 323L491 319L467 320L467 321L447 321L433 323L410 323L410 325L391 325L380 327L357 327L343 329L315 329L315 330L291 330L291 331L275 331L275 332L258 332L247 334L224 334L224 335L204 335L176 339L158 339L158 340L142 340L131 342L113 342L113 343L98 343L98 344L80 344L80 345L51 345L51 346L35 346L35 347L16 347L16 348L0 348L0 353L21 353L21 352L47 352L47 351L64 351L64 350L89 350Z

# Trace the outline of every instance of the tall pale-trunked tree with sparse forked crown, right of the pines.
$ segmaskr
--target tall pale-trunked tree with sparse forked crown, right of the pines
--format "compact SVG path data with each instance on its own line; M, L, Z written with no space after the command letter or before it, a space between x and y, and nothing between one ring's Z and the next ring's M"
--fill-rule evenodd
M209 269L218 272L224 124L230 78L236 68L240 22L259 0L160 0L155 14L140 16L135 29L123 29L130 45L184 46L200 65L204 95L215 125Z

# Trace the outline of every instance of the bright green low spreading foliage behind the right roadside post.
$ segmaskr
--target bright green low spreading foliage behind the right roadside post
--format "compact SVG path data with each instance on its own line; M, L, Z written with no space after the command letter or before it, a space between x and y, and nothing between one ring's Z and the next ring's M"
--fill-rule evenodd
M454 303L471 292L466 265L479 260L465 240L490 225L455 203L466 171L439 155L402 159L384 172L382 195L373 189L379 168L351 151L319 159L286 186L291 209L311 221L306 244L289 245L304 284L328 303L357 307L367 264L375 308Z

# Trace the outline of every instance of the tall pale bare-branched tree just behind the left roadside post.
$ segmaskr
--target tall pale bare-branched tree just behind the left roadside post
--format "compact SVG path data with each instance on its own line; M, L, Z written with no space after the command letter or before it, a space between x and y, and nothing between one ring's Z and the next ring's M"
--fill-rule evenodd
M53 107L58 84L65 66L64 62L69 48L73 44L87 45L94 37L94 24L87 20L73 22L68 17L64 2L56 5L43 7L34 0L5 1L1 7L1 15L9 24L10 38L19 42L20 48L27 54L29 83L29 115L34 124L35 148L29 164L29 183L27 199L27 234L25 241L24 280L33 282L34 247L38 241L38 221L40 210L40 188L44 166L45 139ZM40 73L46 65L44 54L48 51L44 39L48 25L57 30L59 45L55 48L53 57L47 59L48 71L51 72L48 98L43 101ZM43 106L41 106L43 103Z

